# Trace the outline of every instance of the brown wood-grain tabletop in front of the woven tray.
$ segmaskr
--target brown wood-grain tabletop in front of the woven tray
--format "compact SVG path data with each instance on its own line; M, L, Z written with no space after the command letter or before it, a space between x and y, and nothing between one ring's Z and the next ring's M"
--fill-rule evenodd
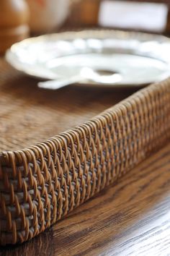
M170 255L170 143L66 219L0 255Z

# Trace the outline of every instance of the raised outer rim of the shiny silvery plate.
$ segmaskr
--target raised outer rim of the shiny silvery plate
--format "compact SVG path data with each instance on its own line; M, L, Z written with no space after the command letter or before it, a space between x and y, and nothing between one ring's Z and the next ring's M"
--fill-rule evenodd
M75 38L97 38L102 39L106 38L106 35L109 35L109 38L113 38L113 35L116 35L116 38L122 38L128 39L132 38L134 40L138 40L140 43L147 42L150 40L157 40L159 43L170 43L170 38L167 38L165 35L158 35L156 33L143 33L138 31L126 31L126 30L113 30L113 29L93 29L93 30L79 30L79 31L64 31L61 33L50 33L45 35L38 35L31 38L26 38L20 42L14 43L9 49L7 49L5 54L6 61L14 67L14 69L17 69L19 72L22 72L23 74L27 74L30 77L35 77L38 80L50 80L48 77L42 77L40 74L32 74L30 69L27 69L27 64L22 64L21 61L17 58L17 55L14 53L16 51L16 48L22 46L23 44L30 45L32 42L40 42L45 41L48 38L56 38L56 40L73 40ZM90 35L90 36L89 36ZM145 39L145 40L143 40ZM170 44L169 44L170 46ZM170 61L169 61L170 64ZM35 66L32 66L35 67ZM156 81L158 82L158 80ZM149 83L133 83L132 84L99 84L99 83L93 83L93 82L78 82L74 85L76 86L88 86L93 88L129 88L129 87L143 87L145 85L148 85Z

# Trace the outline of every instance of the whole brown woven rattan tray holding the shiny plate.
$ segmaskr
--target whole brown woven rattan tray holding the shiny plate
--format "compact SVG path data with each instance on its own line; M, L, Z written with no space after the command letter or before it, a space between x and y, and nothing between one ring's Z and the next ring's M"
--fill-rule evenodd
M51 92L0 70L1 245L40 234L170 138L170 80Z

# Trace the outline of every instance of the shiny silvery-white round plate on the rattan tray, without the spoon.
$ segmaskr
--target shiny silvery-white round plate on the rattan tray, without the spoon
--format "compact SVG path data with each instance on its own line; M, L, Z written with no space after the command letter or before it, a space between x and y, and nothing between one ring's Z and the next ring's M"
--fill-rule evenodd
M118 30L84 30L42 35L15 43L6 60L14 68L40 80L62 80L82 68L98 75L119 74L112 85L82 80L78 85L135 86L170 75L170 43L161 35Z

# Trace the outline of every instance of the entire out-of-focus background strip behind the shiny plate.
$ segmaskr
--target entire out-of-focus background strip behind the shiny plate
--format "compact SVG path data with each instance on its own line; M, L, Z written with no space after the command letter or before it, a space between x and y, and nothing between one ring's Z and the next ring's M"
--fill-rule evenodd
M0 52L30 35L85 27L169 35L169 7L170 0L1 0Z

